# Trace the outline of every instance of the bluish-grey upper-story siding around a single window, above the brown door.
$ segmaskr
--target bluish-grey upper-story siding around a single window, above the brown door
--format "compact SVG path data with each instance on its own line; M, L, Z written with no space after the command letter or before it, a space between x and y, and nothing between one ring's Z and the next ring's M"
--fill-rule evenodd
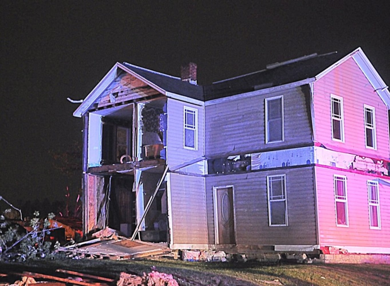
M284 142L266 144L264 102L265 98L278 95L283 95L284 100ZM250 153L262 148L309 143L308 118L301 87L208 105L205 107L206 155Z

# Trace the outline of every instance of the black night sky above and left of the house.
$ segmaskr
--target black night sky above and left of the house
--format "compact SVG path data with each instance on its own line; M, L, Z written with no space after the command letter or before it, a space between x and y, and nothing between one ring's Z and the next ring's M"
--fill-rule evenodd
M0 196L57 200L80 188L81 171L63 175L50 151L81 144L66 98L86 97L115 62L179 76L193 61L205 84L360 46L390 84L385 1L205 3L1 1Z

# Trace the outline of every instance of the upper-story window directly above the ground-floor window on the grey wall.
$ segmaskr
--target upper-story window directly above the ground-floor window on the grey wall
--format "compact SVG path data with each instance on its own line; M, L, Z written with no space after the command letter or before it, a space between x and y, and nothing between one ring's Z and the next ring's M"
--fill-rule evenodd
M265 99L266 143L284 141L283 95Z

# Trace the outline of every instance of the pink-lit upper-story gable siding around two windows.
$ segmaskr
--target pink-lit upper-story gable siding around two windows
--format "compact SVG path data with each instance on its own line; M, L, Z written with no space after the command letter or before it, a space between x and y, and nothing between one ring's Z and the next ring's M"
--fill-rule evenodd
M332 140L331 94L343 98L345 143ZM375 108L377 150L365 148L364 104ZM314 114L316 141L339 151L389 157L386 105L352 58L314 83Z

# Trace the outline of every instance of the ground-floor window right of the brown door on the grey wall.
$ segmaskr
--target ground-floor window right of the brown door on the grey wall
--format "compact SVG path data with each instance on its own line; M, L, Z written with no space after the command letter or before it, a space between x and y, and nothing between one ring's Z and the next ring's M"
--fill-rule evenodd
M287 226L286 176L267 176L269 226Z

